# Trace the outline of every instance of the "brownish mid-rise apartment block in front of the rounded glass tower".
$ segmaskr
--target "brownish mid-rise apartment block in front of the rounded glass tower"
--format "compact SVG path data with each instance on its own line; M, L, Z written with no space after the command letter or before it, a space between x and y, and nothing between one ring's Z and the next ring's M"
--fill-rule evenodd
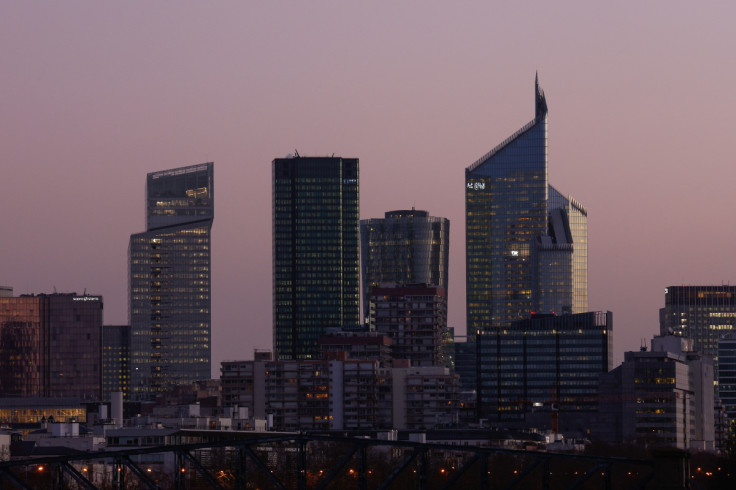
M447 296L427 285L371 288L369 329L391 338L391 357L410 366L448 366Z

